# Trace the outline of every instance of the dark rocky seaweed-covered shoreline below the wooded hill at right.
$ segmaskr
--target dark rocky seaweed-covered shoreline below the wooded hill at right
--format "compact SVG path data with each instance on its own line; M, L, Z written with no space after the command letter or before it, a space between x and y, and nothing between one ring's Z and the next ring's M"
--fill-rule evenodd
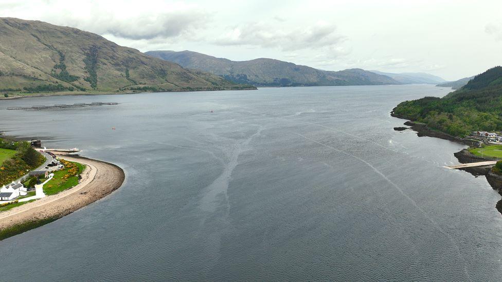
M390 112L390 116L398 118L398 119L407 120L404 123L404 125L407 125L407 126L409 126L409 129L416 131L418 137L423 137L423 136L435 137L435 138L444 139L444 140L448 140L448 141L452 141L452 142L456 142L456 143L459 143L462 145L468 145L468 146L472 146L475 144L474 141L463 140L463 139L451 136L449 134L428 128L427 125L417 123L415 121L408 119L407 117L404 117L401 115L396 115L396 114L394 114L393 110ZM469 152L468 149L462 149L461 151L456 152L453 155L457 158L457 160L460 163L496 160L496 158L476 156L476 155L472 154L471 152ZM468 173L472 174L474 177L484 175L487 179L488 184L490 184L492 189L495 190L496 192L498 192L498 194L500 194L500 196L502 196L502 176L499 176L499 175L492 173L491 166L466 167L466 168L460 168L460 170L468 172ZM495 204L495 208L502 215L502 198L497 201L497 203Z

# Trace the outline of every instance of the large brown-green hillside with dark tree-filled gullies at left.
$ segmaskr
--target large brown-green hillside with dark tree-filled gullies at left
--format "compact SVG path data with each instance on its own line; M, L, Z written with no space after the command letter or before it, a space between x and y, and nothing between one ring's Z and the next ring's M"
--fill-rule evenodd
M2 92L245 88L91 32L18 18L0 18L0 62Z

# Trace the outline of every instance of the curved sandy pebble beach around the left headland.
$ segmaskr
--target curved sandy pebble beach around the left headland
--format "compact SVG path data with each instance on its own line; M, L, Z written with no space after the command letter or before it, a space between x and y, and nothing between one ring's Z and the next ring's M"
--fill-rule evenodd
M58 157L86 165L79 183L56 195L0 213L0 241L62 218L110 195L122 186L126 175L119 166L79 155Z

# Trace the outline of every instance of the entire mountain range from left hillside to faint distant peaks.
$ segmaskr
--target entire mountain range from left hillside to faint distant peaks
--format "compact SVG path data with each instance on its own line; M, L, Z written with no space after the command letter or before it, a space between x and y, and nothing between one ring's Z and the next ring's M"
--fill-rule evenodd
M440 83L426 73L321 70L274 59L231 61L192 51L140 51L40 21L0 18L0 92L131 92Z

